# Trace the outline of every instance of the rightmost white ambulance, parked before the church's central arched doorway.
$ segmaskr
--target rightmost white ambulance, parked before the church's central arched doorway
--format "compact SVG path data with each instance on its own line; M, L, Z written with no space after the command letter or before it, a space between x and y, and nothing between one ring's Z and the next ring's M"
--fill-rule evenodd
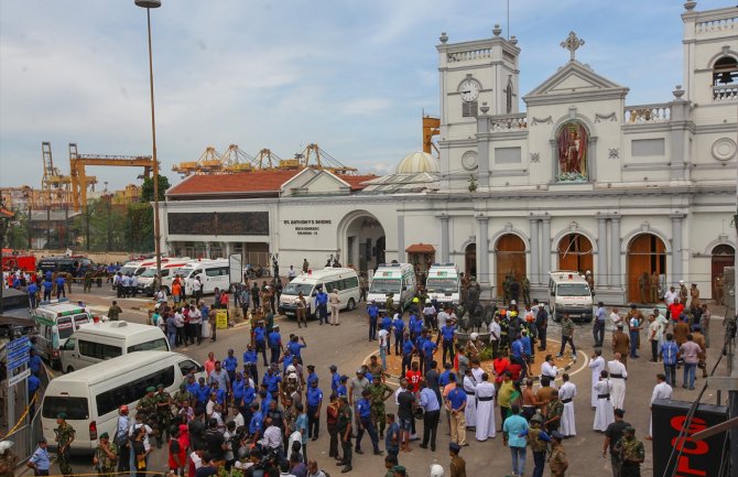
M560 322L564 313L568 313L573 321L592 322L592 290L578 272L555 270L549 273L549 310L554 322Z

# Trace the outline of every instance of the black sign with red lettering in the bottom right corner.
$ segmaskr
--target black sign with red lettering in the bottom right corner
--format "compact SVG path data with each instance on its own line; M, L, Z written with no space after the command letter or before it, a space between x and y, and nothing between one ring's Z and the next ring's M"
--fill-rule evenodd
M720 475L723 456L727 456L730 448L725 432L704 441L694 441L692 435L725 422L728 419L728 409L724 405L699 404L686 435L680 438L680 431L686 423L691 406L691 402L684 401L658 400L653 403L653 477ZM666 466L672 451L674 456L671 465Z

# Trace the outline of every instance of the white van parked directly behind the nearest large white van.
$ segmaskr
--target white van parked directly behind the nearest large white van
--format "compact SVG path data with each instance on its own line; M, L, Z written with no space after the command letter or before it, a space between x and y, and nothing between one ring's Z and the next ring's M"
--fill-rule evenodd
M80 326L61 347L62 369L64 372L73 372L106 359L149 350L171 350L159 326L123 321L88 323Z

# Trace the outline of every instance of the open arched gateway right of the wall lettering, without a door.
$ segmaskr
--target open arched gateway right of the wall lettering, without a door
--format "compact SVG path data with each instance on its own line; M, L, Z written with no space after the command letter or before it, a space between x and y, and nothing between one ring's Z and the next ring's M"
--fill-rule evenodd
M363 273L376 270L380 263L384 263L387 241L384 228L377 217L357 210L344 219L338 230L339 243L345 250L339 257L341 264L354 267Z

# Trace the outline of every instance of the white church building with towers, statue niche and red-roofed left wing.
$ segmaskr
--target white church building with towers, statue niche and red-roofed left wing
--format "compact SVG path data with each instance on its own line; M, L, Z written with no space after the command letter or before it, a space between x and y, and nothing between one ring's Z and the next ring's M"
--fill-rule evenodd
M628 106L627 87L577 59L572 32L568 61L522 95L521 112L514 37L442 34L437 162L409 156L379 178L305 170L263 191L193 176L167 193L163 250L251 247L279 253L283 269L330 254L362 271L453 262L491 295L514 274L543 299L550 271L577 270L607 303L651 302L680 280L710 297L736 247L738 8L695 7L682 14L684 80L663 104ZM249 226L223 216L191 230L183 216L170 227L173 214L214 210Z

